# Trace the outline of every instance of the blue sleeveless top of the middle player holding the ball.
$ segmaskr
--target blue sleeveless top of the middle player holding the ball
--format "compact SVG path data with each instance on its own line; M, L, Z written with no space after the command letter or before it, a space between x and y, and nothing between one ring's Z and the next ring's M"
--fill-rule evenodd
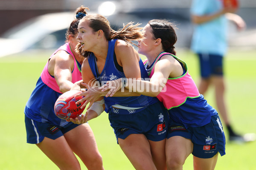
M102 70L102 73L99 74L97 70L96 65L96 57L93 53L90 54L88 57L88 62L90 65L90 68L93 72L94 77L96 77L96 80L99 81L100 85L103 85L103 83L106 83L109 80L116 80L122 77L125 77L125 74L123 71L120 71L114 63L114 48L115 48L115 40L109 40L108 41L108 55L106 58L105 66ZM139 61L140 65L140 73L142 78L148 78L148 74L144 68L143 62L140 59ZM131 68L132 69L132 68ZM156 97L150 97L150 96L131 96L131 97L104 97L105 100L105 112L109 112L113 105L119 105L122 107L127 108L140 108L140 110L145 109L146 106L152 105L159 100Z

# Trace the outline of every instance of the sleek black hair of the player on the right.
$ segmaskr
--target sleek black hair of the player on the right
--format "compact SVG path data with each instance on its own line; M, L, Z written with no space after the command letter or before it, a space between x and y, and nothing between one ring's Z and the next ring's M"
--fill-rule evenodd
M162 40L163 50L176 55L174 45L177 42L177 35L174 24L168 20L150 20L148 24L152 28L154 38L160 38Z

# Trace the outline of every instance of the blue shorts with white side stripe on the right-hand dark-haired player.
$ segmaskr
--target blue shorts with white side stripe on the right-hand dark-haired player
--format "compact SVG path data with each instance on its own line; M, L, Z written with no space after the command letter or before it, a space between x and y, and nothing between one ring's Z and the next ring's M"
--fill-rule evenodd
M191 139L194 144L192 154L198 158L212 158L216 153L225 155L225 135L220 118L211 117L211 122L201 127L185 128L172 119L169 121L167 139L172 136L182 136Z

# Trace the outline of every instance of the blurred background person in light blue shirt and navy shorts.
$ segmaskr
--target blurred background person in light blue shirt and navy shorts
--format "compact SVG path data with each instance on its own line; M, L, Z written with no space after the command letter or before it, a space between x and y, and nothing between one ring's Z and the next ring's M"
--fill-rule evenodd
M227 127L229 140L244 142L244 137L234 132L231 127L224 99L223 57L227 52L228 20L233 21L239 30L243 30L246 26L244 20L234 14L237 9L236 0L193 0L191 18L195 28L191 49L198 55L200 61L199 93L204 95L211 84L214 86L218 113Z

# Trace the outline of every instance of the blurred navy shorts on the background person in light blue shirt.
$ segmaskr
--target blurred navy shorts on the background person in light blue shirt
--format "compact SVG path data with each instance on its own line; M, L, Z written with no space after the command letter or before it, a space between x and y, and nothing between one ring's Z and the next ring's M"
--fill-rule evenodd
M223 56L215 54L198 54L202 78L212 75L223 76Z

